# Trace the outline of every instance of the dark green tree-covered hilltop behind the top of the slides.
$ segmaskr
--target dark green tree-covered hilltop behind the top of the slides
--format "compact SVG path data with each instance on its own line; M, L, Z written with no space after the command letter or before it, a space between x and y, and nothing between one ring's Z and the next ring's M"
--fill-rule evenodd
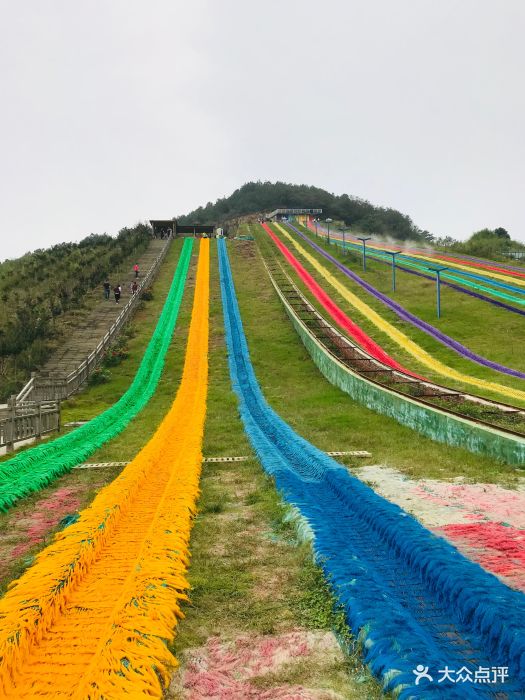
M428 231L419 229L409 216L396 209L376 207L347 194L335 195L319 187L286 182L248 182L229 197L179 217L180 223L224 224L228 220L269 212L278 207L322 208L323 217L342 220L348 226L399 240L431 240Z

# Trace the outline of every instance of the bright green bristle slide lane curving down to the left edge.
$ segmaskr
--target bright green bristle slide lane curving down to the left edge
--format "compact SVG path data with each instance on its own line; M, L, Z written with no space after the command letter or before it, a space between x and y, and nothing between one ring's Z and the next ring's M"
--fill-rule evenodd
M193 239L182 247L166 303L133 382L110 408L72 433L38 445L0 464L0 510L38 491L118 435L157 388L179 313Z

